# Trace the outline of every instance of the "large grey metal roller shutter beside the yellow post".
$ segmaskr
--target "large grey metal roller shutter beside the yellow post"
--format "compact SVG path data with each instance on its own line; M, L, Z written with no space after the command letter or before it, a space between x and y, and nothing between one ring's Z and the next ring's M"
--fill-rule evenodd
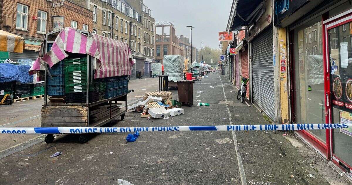
M276 120L272 27L252 41L253 102Z

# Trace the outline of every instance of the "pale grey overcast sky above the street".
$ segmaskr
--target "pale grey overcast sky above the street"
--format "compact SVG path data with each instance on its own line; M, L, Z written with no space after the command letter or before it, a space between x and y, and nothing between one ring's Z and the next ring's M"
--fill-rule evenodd
M190 39L192 44L200 48L219 48L218 32L225 31L230 14L232 0L143 0L152 11L155 22L171 22L176 29L176 35Z

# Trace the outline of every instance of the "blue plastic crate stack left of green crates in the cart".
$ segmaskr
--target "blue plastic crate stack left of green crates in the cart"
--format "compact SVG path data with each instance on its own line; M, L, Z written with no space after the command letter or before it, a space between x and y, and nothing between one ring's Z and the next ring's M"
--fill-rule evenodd
M49 75L46 76L46 90L49 96L65 95L64 87L64 62L60 61L49 69L52 79Z

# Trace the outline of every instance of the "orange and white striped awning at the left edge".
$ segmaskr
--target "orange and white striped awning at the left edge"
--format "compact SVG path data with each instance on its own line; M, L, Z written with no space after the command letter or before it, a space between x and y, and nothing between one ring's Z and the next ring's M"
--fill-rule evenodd
M23 53L24 38L4 30L0 30L0 51Z

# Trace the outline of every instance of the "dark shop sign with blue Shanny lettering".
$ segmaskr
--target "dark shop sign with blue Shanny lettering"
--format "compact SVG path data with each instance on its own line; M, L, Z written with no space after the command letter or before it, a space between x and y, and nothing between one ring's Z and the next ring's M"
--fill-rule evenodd
M274 24L281 23L309 0L274 0Z

